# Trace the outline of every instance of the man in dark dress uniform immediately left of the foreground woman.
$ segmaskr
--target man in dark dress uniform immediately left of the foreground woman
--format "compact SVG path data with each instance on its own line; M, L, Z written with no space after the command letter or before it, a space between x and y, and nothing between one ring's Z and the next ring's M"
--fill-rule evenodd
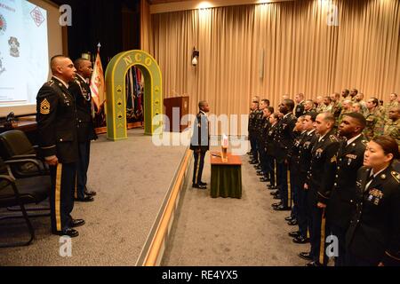
M363 166L367 143L363 135L365 123L363 114L349 113L344 115L339 126L339 136L344 140L340 141L335 181L326 211L331 233L339 241L336 266L345 264L345 238L356 198L356 173Z

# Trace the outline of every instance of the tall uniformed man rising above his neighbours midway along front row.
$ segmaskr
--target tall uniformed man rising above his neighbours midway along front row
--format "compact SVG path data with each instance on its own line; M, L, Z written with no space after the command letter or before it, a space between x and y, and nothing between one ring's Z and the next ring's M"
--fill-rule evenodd
M273 209L277 211L290 210L289 194L287 183L287 154L293 144L293 128L296 123L296 116L292 114L294 102L292 99L284 99L279 105L279 112L284 116L278 122L276 128L276 175L277 187L281 202L273 204Z

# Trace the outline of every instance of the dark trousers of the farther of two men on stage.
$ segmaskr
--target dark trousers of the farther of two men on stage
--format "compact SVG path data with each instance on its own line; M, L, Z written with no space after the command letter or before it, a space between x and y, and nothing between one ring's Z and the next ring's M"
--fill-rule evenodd
M91 155L91 141L79 143L79 162L76 164L76 193L75 197L84 198L87 183L87 170Z

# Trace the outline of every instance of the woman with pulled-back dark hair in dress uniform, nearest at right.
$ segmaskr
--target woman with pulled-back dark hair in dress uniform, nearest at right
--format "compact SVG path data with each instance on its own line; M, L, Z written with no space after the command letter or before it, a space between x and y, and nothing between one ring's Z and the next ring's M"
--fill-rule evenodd
M400 173L394 138L372 138L356 180L356 210L346 235L346 264L400 266Z

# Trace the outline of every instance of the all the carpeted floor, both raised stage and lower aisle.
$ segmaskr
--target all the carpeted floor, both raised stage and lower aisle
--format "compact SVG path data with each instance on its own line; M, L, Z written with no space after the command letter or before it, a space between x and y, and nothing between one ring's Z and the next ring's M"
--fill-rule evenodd
M218 150L218 148L216 148ZM185 146L156 147L142 130L113 143L104 136L92 144L89 188L92 203L76 203L73 216L86 225L72 239L72 257L60 257L60 239L50 234L48 217L34 219L36 241L24 248L0 248L0 265L134 265L146 241ZM304 265L287 235L289 212L271 209L273 199L244 156L243 197L212 199L206 191L188 188L181 195L178 216L163 265ZM191 174L188 176L191 178ZM204 180L210 180L209 156ZM0 241L22 235L23 223L0 223Z

